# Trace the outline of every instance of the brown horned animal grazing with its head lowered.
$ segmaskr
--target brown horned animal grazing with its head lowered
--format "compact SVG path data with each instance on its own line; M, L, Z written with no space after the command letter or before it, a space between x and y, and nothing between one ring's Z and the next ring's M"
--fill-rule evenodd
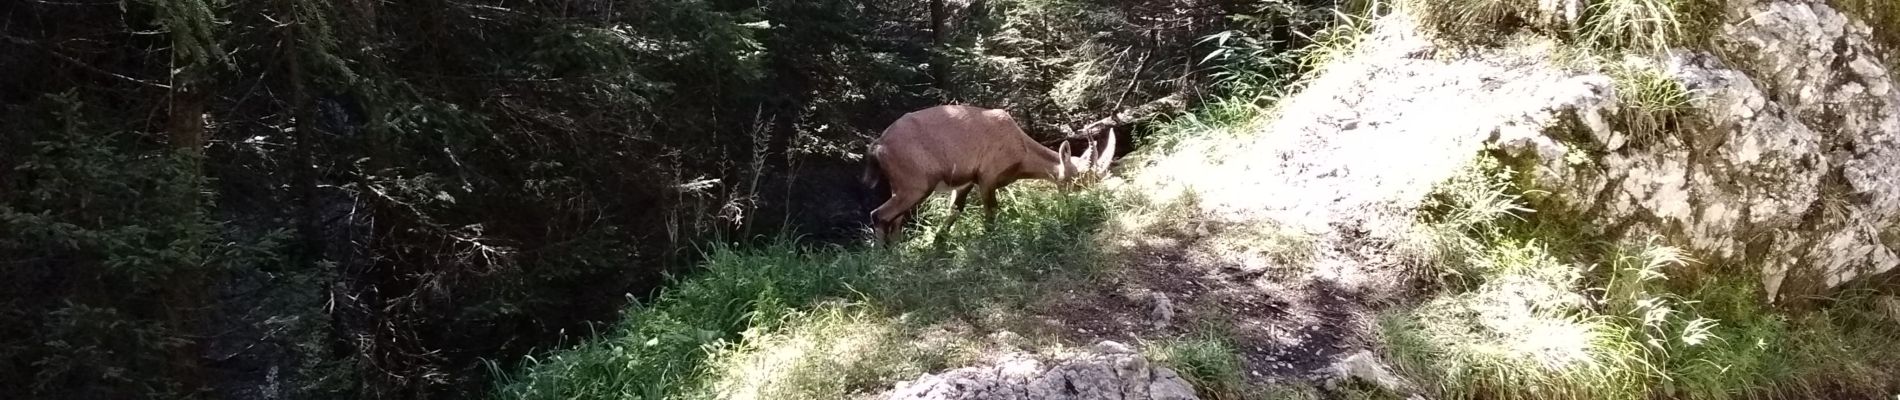
M1108 135L1100 152L1089 140L1081 157L1068 154L1068 140L1049 150L1003 110L933 106L904 114L866 152L864 184L887 186L891 193L870 212L872 231L885 246L897 243L902 224L937 191L954 199L944 231L963 214L971 190L982 199L984 224L994 224L996 191L1011 182L1051 180L1066 193L1081 178L1106 176L1115 135Z

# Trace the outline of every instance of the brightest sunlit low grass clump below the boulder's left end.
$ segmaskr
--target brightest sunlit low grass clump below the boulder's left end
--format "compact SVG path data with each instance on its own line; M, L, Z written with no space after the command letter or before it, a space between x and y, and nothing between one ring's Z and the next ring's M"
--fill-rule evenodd
M1400 366L1444 398L1638 398L1644 351L1588 313L1583 267L1535 243L1499 245L1471 292L1381 318Z

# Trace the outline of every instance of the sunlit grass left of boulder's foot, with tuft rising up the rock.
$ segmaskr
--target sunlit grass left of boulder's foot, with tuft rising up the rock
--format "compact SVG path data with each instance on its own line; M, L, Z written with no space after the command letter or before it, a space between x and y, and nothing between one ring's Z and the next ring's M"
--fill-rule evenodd
M1381 318L1393 356L1446 398L1640 398L1651 375L1640 337L1596 313L1586 265L1514 237L1528 214L1518 193L1492 159L1438 186L1421 241L1454 292Z

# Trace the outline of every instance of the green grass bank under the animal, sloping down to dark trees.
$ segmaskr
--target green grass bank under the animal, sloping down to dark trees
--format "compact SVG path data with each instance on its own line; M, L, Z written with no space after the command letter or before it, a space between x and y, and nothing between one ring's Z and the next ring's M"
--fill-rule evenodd
M612 330L498 372L498 398L838 398L882 389L958 356L958 345L912 339L929 322L1020 307L1037 290L1098 273L1094 235L1112 199L1024 184L1005 191L998 226L965 220L940 250L927 246L944 235L931 224L897 252L712 246L697 271ZM925 220L940 220L944 203Z

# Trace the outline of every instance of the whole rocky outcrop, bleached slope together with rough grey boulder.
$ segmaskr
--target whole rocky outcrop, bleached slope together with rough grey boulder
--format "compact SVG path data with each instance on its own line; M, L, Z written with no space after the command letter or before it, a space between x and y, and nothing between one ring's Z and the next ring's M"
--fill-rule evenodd
M1606 239L1659 235L1702 265L1759 269L1771 300L1892 271L1892 61L1881 59L1864 23L1818 0L1729 2L1727 21L1714 51L1606 68L1562 64L1552 42L1440 47L1393 15L1288 99L1277 119L1250 127L1264 131L1252 142L1188 148L1153 161L1138 184L1163 195L1191 190L1216 220L1305 231L1320 252L1364 252L1378 248L1366 239L1408 235L1412 209L1431 188L1495 146L1548 193L1533 199L1537 216ZM1615 68L1624 72L1606 72ZM1687 112L1640 121L1655 104L1628 100L1644 93L1619 85L1653 87L1630 85L1626 70L1680 83ZM1347 262L1326 265L1336 260ZM1351 260L1379 258L1320 254L1311 267L1347 286L1368 284L1351 277L1381 277Z

